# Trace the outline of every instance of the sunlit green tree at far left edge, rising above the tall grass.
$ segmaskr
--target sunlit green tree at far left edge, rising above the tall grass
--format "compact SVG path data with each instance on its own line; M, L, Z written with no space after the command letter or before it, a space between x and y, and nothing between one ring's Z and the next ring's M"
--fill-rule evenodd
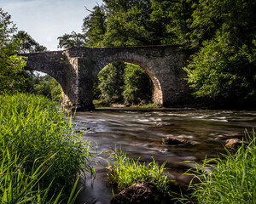
M20 90L25 81L22 73L26 62L17 55L20 44L13 37L17 28L10 18L0 8L0 94Z

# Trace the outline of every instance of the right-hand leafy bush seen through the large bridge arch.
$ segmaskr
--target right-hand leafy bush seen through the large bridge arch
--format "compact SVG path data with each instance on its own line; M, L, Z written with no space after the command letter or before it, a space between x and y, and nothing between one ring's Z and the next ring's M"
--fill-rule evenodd
M142 100L150 101L152 82L148 74L138 65L127 64L125 67L125 104L139 104Z

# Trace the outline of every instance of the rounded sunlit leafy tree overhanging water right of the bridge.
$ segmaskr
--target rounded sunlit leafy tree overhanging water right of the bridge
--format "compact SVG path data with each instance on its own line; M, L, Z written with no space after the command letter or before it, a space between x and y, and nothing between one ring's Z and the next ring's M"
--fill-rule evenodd
M255 99L255 52L232 48L226 38L204 42L188 67L188 81L198 97Z

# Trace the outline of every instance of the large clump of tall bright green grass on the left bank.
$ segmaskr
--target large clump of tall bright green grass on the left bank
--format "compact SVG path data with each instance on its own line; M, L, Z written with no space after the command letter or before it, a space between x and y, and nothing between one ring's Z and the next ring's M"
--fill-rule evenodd
M93 173L90 144L75 133L72 117L31 94L1 95L0 105L1 203L72 203L80 173Z

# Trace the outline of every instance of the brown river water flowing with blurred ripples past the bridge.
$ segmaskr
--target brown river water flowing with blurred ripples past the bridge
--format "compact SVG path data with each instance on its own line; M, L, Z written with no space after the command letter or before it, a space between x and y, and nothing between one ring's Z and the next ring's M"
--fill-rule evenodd
M152 157L159 163L166 161L169 178L176 185L184 185L190 178L183 173L193 164L183 161L201 162L206 156L224 152L226 139L241 139L246 129L256 129L256 111L98 109L78 112L76 122L79 129L88 129L84 139L90 140L92 146L97 144L97 152L121 147L127 156L140 157L140 161L152 161ZM167 136L186 139L191 145L163 144ZM107 159L110 153L102 157ZM81 187L78 204L107 204L113 195L101 165L96 166L96 179L87 178Z

